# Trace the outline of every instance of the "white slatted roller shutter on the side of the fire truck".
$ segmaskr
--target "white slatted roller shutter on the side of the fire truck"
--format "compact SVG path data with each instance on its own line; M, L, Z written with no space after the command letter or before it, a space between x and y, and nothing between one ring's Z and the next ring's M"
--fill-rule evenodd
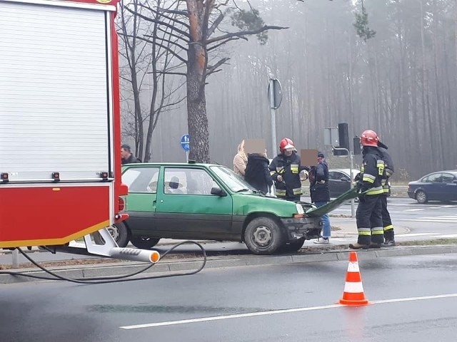
M11 181L111 170L107 30L106 11L0 1L0 172Z

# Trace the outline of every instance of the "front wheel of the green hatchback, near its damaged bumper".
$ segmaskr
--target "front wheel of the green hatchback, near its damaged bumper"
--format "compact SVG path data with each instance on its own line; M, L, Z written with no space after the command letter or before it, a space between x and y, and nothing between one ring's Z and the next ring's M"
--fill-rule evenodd
M253 254L273 254L283 241L281 226L269 217L256 217L244 232L244 242Z

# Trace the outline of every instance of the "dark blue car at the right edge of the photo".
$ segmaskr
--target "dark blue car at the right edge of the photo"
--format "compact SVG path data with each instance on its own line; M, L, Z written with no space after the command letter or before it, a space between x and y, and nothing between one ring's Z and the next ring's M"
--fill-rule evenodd
M438 171L408 183L408 196L418 203L457 201L457 170Z

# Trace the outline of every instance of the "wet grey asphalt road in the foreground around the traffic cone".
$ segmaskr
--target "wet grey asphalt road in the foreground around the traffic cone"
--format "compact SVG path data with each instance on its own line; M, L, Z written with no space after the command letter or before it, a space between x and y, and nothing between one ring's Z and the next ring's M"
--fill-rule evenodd
M121 284L0 285L1 341L455 341L457 254L358 255L371 305L355 308L335 304L347 261Z

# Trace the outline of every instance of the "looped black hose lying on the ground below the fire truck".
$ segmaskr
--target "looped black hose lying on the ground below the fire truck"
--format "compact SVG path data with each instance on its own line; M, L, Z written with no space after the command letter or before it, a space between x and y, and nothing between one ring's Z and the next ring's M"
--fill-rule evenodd
M59 281L70 281L72 283L77 283L77 284L107 284L107 283L119 283L121 281L136 281L136 280L146 280L146 279L159 279L159 278L168 278L170 276L190 276L191 274L196 274L199 273L202 269L204 269L204 266L206 265L206 251L199 242L194 242L194 241L184 241L180 242L179 244L175 244L173 247L168 249L164 254L161 255L161 259L159 260L162 261L166 257L167 254L172 252L174 249L177 247L183 245L183 244L196 244L200 249L201 253L203 255L203 264L199 267L199 269L196 269L195 271L191 272L184 272L184 273L173 273L173 274L164 274L162 276L144 276L141 278L131 278L131 276L136 276L136 274L140 274L144 271L147 271L148 269L151 269L152 266L156 264L151 264L149 266L146 266L144 269L141 269L139 271L136 271L131 274L125 274L123 276L104 276L104 277L96 277L96 278L76 278L76 279L71 279L71 278L66 278L65 276L60 276L59 274L54 273L53 271L50 271L49 269L44 268L44 266L39 265L31 259L22 249L17 247L16 249L24 255L24 257L29 260L32 264L37 266L39 269L45 271L47 274L51 274L51 276L54 276L54 278L46 277L46 276L36 276L34 274L26 274L26 273L21 273L21 272L16 272L16 271L0 271L0 274L10 274L12 276L27 276L29 278L34 278L34 279L45 279L45 280L59 280Z

